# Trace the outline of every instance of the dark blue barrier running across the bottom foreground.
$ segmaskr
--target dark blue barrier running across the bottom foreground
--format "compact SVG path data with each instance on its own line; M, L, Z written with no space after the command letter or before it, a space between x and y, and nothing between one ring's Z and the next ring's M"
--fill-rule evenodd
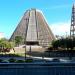
M75 63L2 63L0 75L75 75Z

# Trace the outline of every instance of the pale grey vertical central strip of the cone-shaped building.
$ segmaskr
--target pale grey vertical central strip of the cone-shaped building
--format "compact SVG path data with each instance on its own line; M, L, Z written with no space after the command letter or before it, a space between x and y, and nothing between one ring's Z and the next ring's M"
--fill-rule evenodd
M35 19L35 10L30 11L28 31L27 31L27 42L36 42L37 41L37 31L36 31L36 19Z

